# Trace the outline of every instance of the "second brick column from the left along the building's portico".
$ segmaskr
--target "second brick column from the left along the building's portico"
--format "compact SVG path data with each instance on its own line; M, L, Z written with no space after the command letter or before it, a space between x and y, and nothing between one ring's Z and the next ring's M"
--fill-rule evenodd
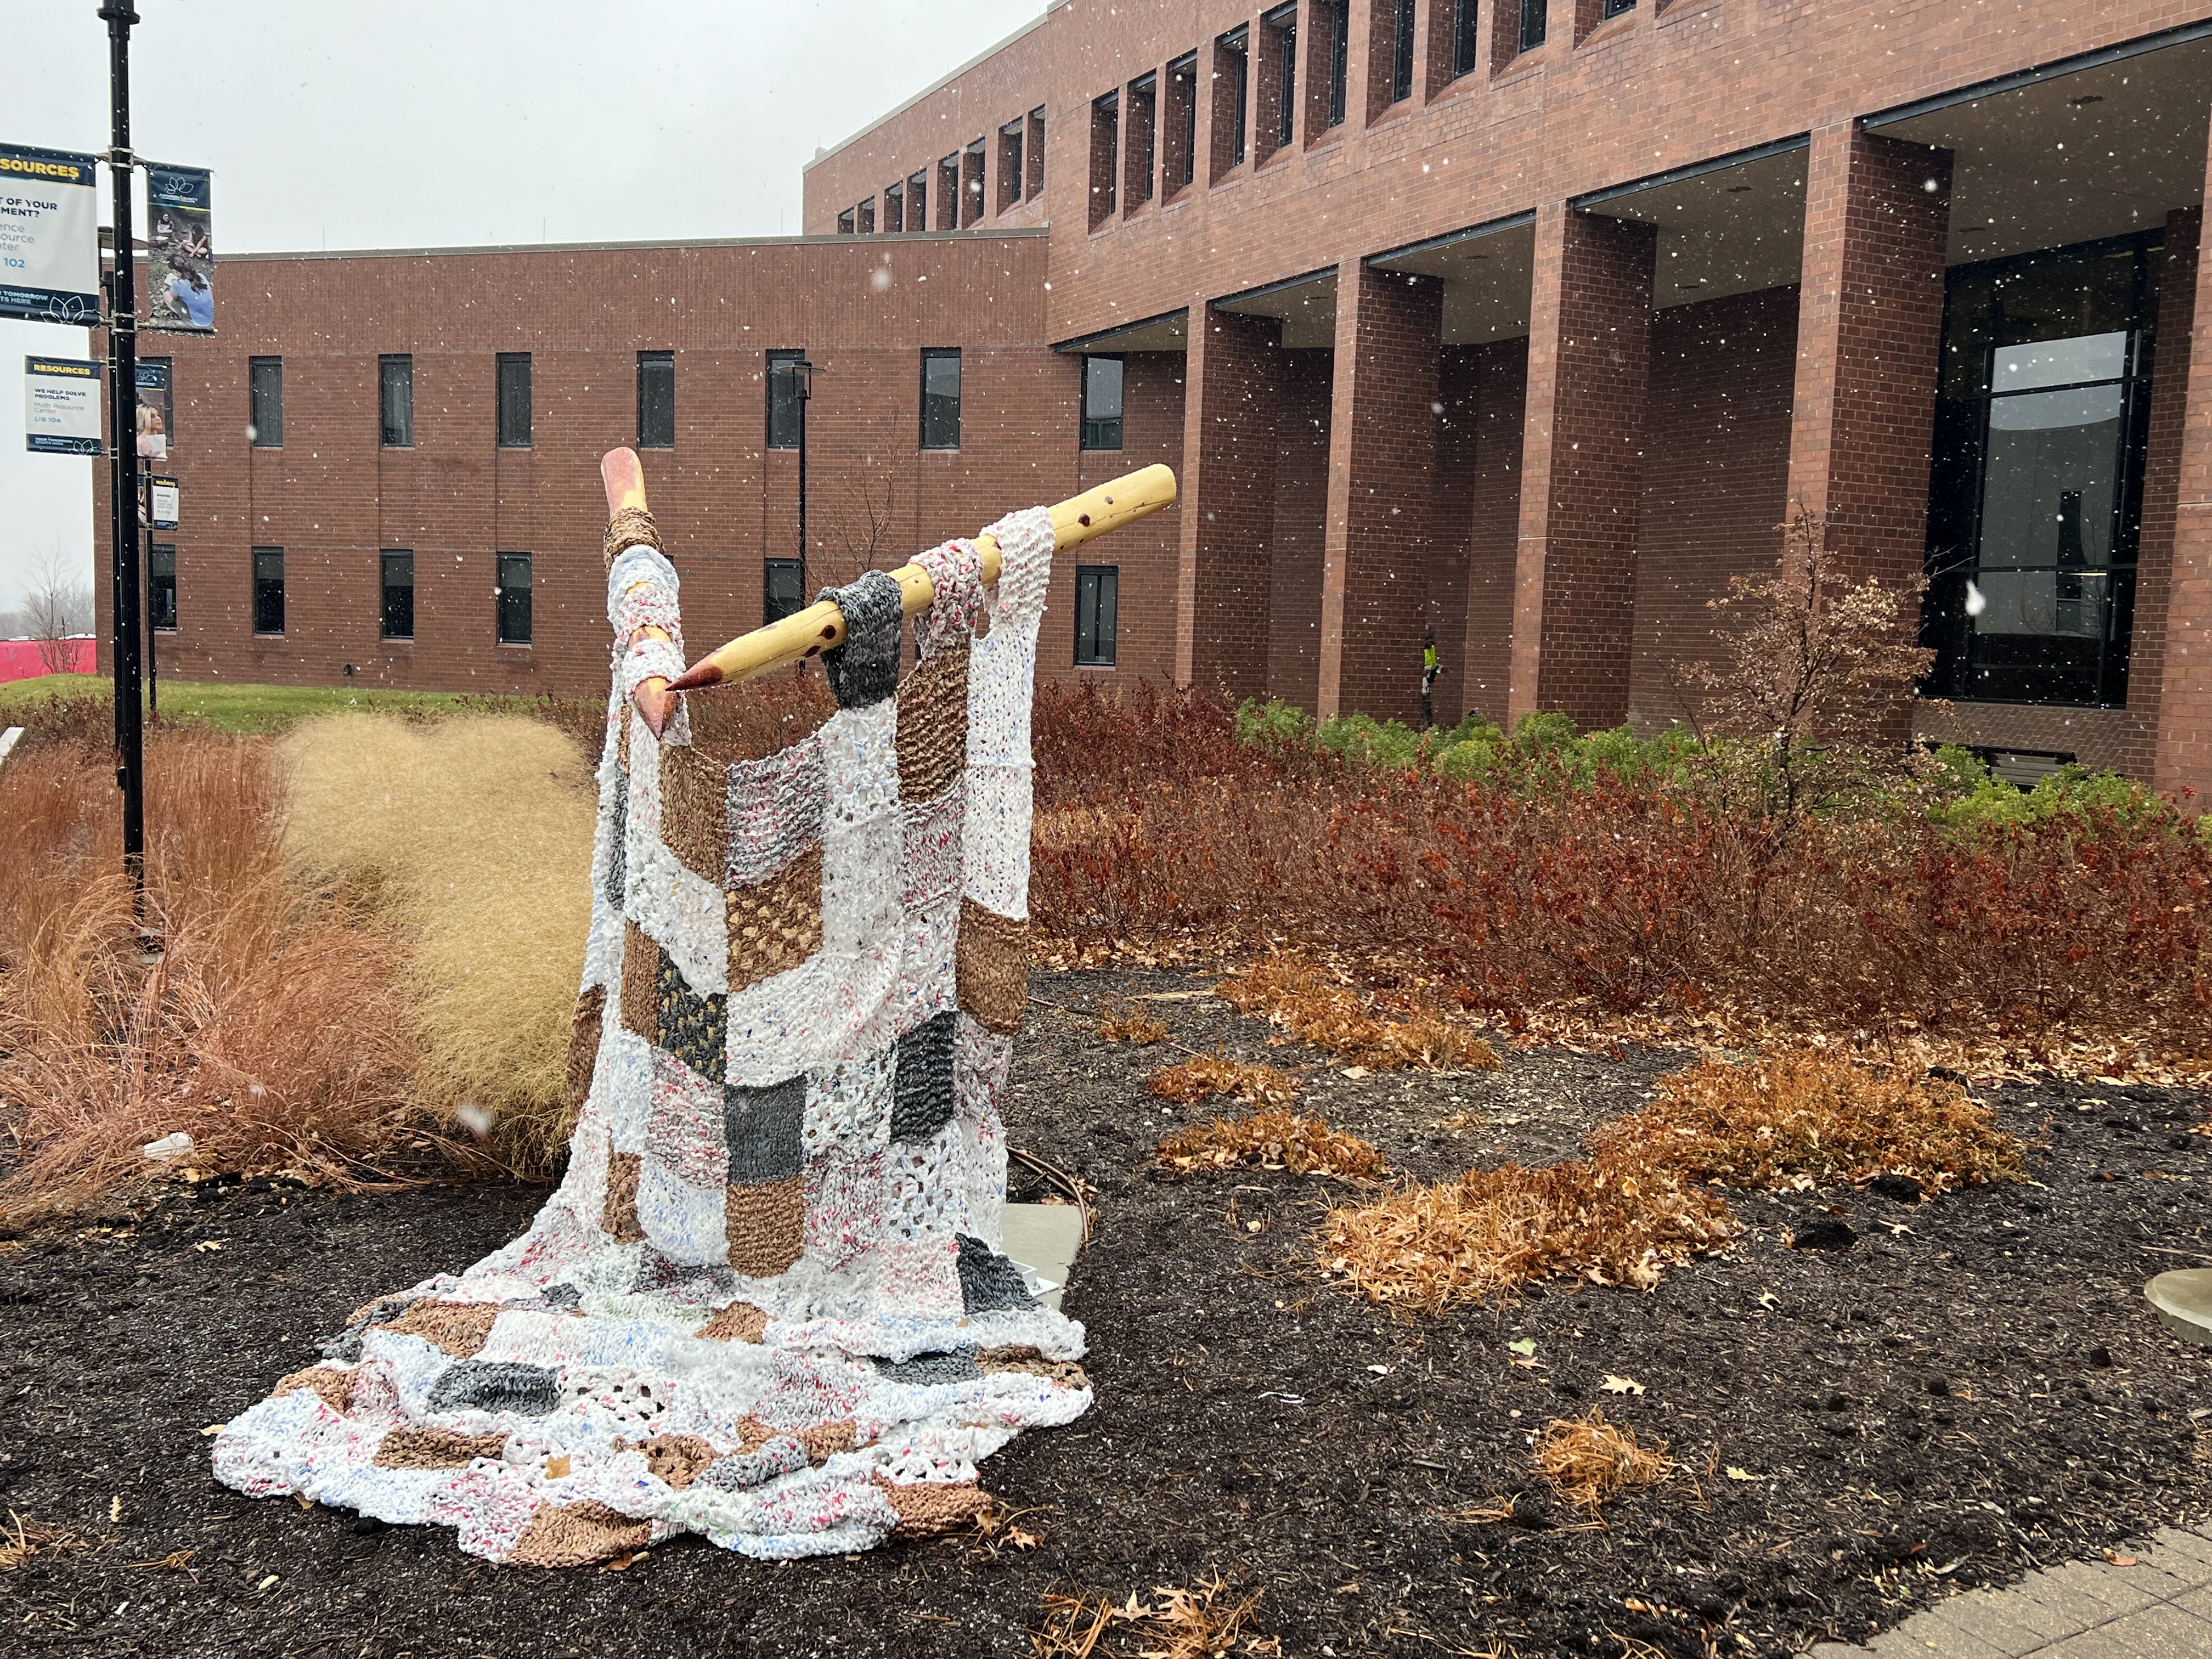
M1336 276L1318 712L1420 721L1444 285L1347 259Z

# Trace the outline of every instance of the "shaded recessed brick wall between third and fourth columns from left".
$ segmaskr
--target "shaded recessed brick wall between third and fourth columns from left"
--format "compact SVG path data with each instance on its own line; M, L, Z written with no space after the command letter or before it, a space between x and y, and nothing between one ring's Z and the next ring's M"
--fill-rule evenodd
M1770 288L1652 316L1628 677L1639 730L1690 714L1677 670L1721 661L1708 602L1781 553L1796 312L1796 288Z

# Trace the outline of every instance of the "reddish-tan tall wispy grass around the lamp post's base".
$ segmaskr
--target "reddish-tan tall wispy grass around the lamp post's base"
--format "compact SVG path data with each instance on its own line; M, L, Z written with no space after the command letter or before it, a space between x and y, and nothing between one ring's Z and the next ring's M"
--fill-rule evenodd
M407 1117L396 942L288 880L263 743L168 730L146 745L148 953L111 765L55 743L0 774L0 1110L20 1148L0 1206L88 1201L173 1130L201 1164L358 1179Z

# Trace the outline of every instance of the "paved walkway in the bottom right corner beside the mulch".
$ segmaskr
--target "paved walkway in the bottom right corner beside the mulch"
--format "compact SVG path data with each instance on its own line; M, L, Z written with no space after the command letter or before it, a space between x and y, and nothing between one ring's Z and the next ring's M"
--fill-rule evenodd
M2212 1659L2212 1533L2166 1531L2117 1551L2135 1566L2068 1562L2004 1590L1969 1590L1865 1648L1814 1659Z

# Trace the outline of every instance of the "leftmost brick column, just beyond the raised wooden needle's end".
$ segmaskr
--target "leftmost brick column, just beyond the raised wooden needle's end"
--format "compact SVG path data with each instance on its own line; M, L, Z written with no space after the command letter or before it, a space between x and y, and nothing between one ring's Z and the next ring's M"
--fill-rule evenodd
M1190 307L1183 358L1183 522L1175 684L1267 695L1267 538L1274 524L1274 378L1281 323Z

